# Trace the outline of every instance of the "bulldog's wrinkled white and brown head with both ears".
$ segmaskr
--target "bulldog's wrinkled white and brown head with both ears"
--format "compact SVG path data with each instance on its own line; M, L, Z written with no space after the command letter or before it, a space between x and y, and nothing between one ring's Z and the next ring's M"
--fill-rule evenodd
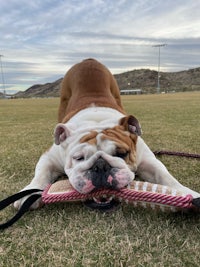
M140 134L140 125L133 116L120 119L112 128L73 134L58 124L55 143L65 150L65 172L72 186L87 194L94 189L121 189L129 185L135 177Z

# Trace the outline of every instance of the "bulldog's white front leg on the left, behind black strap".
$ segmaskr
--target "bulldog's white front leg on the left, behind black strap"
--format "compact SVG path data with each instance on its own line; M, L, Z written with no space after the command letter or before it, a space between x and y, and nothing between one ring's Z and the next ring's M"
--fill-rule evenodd
M32 179L29 185L27 185L26 187L22 189L22 191L27 190L27 189L43 190L48 184L53 183L56 180L56 178L63 172L64 171L61 167L61 164L58 161L58 158L56 157L55 149L51 148L48 152L46 152L40 157L35 168L34 178ZM14 203L14 207L16 209L20 209L20 207L22 206L22 204L28 197L24 197L16 201ZM31 209L37 209L41 207L42 205L43 204L42 204L41 198L39 198L35 203L33 203L33 205L31 206Z

